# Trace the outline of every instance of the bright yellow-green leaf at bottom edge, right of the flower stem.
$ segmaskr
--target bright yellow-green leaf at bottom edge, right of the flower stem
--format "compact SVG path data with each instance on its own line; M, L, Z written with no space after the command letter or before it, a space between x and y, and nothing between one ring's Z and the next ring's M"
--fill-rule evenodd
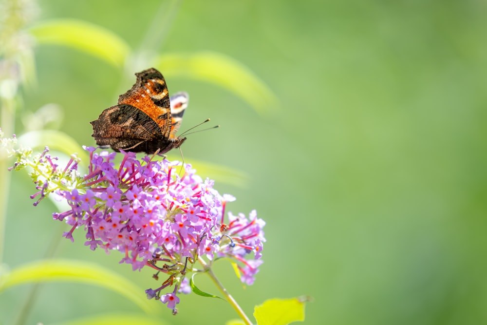
M258 325L285 325L304 321L307 298L270 299L254 309Z

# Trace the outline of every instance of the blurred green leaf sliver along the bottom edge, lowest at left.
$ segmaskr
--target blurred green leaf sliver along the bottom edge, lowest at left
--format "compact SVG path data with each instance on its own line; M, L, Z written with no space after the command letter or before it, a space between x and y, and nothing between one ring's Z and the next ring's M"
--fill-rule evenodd
M154 319L143 314L103 314L72 321L57 323L55 325L165 325L159 318Z

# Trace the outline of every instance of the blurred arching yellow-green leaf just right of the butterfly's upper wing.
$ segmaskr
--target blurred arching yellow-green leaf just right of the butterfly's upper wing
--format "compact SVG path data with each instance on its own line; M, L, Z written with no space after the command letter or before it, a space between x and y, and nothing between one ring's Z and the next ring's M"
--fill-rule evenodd
M221 53L161 55L154 64L165 76L185 76L217 84L242 97L259 114L268 114L277 108L277 97L258 76Z

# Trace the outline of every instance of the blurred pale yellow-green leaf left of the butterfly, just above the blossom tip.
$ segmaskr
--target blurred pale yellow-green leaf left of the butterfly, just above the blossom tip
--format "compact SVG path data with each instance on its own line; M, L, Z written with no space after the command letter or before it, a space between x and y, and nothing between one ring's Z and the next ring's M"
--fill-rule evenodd
M85 150L68 134L56 130L31 131L19 137L20 145L30 148L44 149L48 146L50 150L65 153L68 157L73 153L88 164L90 157Z

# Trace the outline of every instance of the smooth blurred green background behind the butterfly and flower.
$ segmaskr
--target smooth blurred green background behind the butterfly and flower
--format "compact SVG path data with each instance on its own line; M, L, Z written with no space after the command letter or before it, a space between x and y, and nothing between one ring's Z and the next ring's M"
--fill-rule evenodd
M277 96L275 108L259 113L214 84L166 75L169 92L190 94L181 130L207 117L222 126L190 135L185 161L245 173L246 185L216 188L237 197L229 210L257 209L267 222L265 262L254 286L242 288L229 265L217 268L248 314L268 298L309 295L305 324L487 323L485 1L39 0L38 6L39 21L82 19L134 49L148 41L149 30L164 33L155 46L160 54L233 57ZM164 16L169 10L174 15ZM55 45L38 46L35 56L37 87L24 92L16 132L24 129L22 116L56 103L64 115L60 130L83 145L94 145L89 122L131 87L133 73L149 67L141 56L128 73ZM14 268L42 258L64 226L51 220L51 202L31 206L34 189L25 175L12 177L4 262ZM150 271L131 272L117 264L118 253L90 251L80 234L57 251L112 268L142 288L155 286ZM26 292L0 294L3 324ZM195 295L182 297L176 317L161 304L153 308L168 324L237 318L224 302ZM140 310L106 289L47 284L28 324L121 311Z

